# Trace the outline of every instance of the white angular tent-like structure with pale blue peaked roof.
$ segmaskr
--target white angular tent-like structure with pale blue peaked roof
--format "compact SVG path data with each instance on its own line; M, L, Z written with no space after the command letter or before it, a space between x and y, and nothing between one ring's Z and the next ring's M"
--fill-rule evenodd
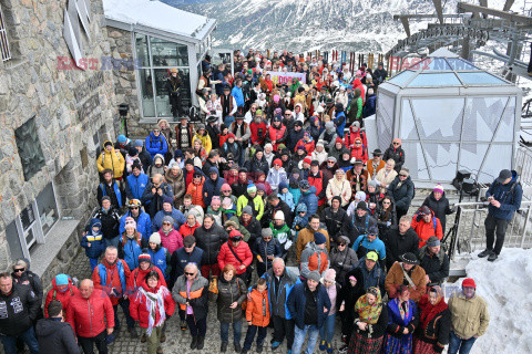
M412 179L451 181L466 169L491 183L513 167L522 92L439 49L378 90L378 146L402 139Z

